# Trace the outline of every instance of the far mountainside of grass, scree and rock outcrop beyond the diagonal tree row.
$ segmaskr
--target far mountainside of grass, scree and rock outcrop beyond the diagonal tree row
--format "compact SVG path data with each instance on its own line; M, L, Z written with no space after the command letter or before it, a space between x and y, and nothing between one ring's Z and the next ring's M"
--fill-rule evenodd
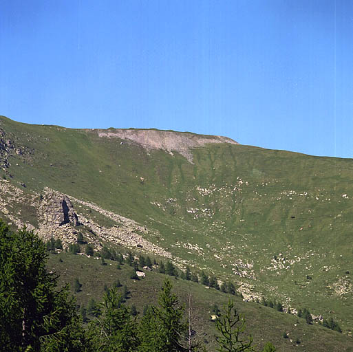
M82 231L97 248L188 263L236 281L248 300L307 307L351 332L351 159L192 133L0 120L2 217L65 243ZM81 225L43 215L59 219L65 197Z

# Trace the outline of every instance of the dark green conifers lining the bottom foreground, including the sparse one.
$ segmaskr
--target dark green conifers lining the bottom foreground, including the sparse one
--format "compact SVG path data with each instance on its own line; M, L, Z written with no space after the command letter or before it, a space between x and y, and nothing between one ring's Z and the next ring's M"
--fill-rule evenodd
M206 351L167 279L158 305L138 318L117 287L107 288L99 313L83 324L68 287L47 272L46 245L33 232L12 232L0 221L0 346L14 352ZM217 351L256 351L232 302L216 321ZM275 351L268 343L263 352Z

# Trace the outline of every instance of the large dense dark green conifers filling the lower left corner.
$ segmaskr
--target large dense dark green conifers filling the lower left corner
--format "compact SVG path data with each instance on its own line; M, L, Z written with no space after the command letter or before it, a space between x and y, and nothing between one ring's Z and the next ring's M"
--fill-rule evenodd
M45 269L44 243L0 221L1 351L84 351L85 338L67 287Z

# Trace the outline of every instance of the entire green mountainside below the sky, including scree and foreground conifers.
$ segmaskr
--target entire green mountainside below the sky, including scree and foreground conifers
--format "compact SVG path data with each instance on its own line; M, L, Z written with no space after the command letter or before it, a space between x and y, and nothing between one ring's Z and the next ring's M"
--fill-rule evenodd
M0 164L1 351L353 351L352 159L1 116Z

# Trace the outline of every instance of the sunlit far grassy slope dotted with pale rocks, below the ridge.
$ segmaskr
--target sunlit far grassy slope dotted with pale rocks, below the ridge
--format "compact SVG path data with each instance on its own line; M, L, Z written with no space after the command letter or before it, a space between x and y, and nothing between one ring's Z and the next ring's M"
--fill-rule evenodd
M94 201L159 230L150 240L191 264L352 326L352 201L342 197L353 196L351 159L209 144L193 165L94 131L1 122L32 150L10 160L14 182ZM330 287L340 285L347 292L337 296Z

